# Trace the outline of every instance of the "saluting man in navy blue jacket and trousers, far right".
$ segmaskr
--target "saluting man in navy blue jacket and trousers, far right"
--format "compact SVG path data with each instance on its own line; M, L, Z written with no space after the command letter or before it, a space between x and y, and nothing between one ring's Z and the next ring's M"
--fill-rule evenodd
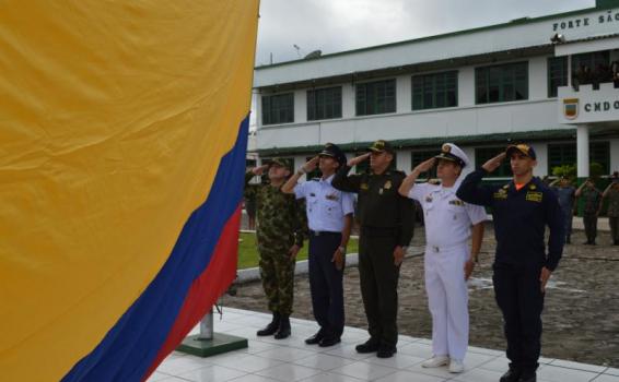
M505 186L482 186L481 179L510 158L514 175ZM456 195L467 203L492 207L497 254L492 277L503 313L510 370L501 382L535 382L541 338L546 283L561 259L565 239L557 194L533 176L533 147L511 145L469 174ZM550 228L548 254L544 243Z

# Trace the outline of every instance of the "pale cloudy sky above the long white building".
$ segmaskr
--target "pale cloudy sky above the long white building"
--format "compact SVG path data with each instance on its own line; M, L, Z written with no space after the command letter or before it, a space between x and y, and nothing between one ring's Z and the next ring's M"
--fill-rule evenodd
M591 7L595 0L260 0L256 65L271 55L277 63Z

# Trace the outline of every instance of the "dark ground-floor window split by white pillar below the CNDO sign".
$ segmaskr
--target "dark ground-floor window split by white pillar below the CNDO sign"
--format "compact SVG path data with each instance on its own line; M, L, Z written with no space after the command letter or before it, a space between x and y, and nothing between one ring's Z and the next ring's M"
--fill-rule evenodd
M589 163L597 163L603 174L610 174L610 144L608 142L589 143ZM548 174L552 168L563 165L576 166L577 153L575 143L560 143L548 145Z

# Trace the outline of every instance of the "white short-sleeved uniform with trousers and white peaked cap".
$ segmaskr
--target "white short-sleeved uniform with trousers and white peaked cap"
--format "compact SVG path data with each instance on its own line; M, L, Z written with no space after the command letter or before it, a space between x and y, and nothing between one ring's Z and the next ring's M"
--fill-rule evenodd
M468 165L456 145L443 145L439 159ZM425 290L432 313L432 349L436 357L462 361L468 346L468 289L464 267L470 258L471 225L486 220L482 206L456 196L459 179L451 188L414 184L408 196L423 208L425 222Z

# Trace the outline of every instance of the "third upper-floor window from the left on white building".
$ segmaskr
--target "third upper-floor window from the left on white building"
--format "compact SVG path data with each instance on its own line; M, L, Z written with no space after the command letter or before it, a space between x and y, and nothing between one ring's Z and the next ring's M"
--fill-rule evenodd
M396 111L396 80L357 84L357 115Z

